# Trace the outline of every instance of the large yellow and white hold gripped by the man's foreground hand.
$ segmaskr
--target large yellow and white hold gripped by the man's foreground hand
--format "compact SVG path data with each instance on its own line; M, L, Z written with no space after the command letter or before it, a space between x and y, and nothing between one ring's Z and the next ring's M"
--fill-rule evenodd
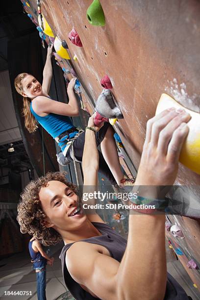
M180 152L179 161L200 174L200 114L183 107L167 94L161 95L155 114L157 115L170 107L184 108L191 115L191 119L187 123L189 133Z

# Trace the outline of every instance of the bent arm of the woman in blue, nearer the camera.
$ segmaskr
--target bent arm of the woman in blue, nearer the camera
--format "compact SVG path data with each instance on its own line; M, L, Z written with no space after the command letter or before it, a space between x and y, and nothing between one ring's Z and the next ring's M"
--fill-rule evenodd
M32 107L36 114L41 115L43 113L54 113L70 117L78 116L78 104L74 92L75 80L76 78L72 78L68 84L68 104L56 100L50 100L45 96L38 96L32 101Z

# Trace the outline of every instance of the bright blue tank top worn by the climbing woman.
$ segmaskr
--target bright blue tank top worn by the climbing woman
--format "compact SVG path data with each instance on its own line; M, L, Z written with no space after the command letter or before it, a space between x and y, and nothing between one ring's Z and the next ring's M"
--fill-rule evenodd
M70 117L49 113L45 117L40 117L36 114L32 108L32 102L30 103L30 111L35 117L36 121L43 126L43 128L53 137L59 136L61 133L75 127ZM77 131L70 133L69 138L73 138ZM66 142L59 142L59 147L63 151L66 147Z

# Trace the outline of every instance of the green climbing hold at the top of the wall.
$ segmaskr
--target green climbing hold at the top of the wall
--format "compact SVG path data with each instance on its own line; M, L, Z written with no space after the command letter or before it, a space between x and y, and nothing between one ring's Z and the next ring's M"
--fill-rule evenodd
M99 0L94 0L87 9L87 19L91 25L104 26L105 16Z

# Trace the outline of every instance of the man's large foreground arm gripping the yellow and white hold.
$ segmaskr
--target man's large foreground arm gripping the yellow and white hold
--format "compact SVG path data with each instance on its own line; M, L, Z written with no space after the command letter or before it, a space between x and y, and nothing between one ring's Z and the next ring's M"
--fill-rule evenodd
M187 113L165 110L148 121L135 185L153 185L155 190L141 196L156 198L156 186L173 185L189 119ZM130 214L121 263L88 243L76 242L66 254L70 274L100 299L163 300L167 280L164 224L165 215Z

